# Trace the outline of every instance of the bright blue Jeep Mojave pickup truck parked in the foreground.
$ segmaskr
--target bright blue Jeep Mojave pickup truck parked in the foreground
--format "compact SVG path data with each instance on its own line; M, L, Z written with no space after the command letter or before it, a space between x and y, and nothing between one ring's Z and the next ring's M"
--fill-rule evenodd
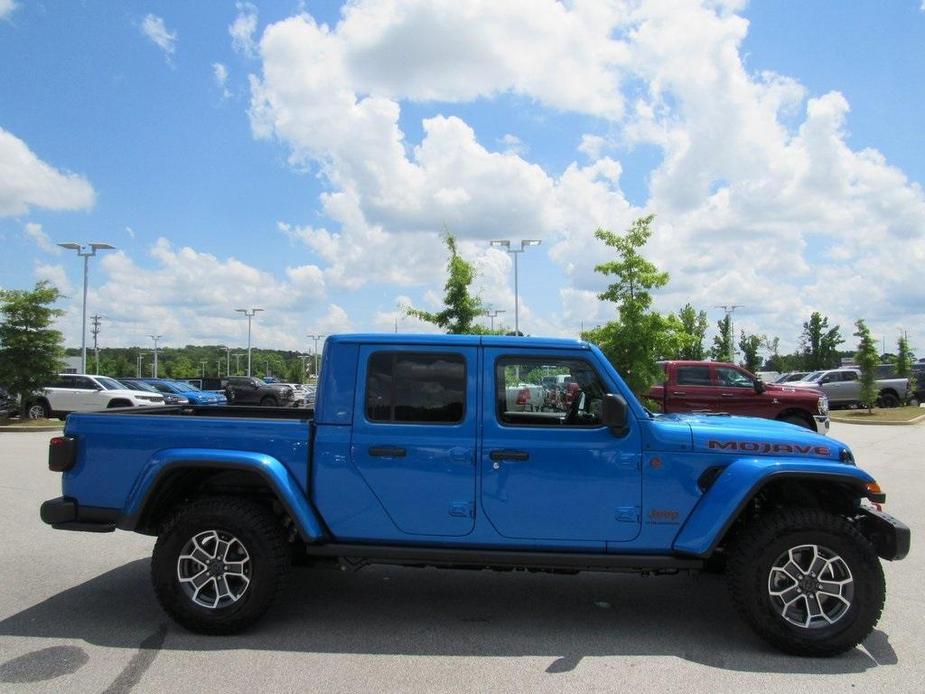
M577 384L569 399L517 397L550 376ZM880 558L909 550L845 445L783 422L652 414L574 340L336 336L314 413L75 413L63 434L49 447L63 496L42 519L156 535L158 600L205 633L255 622L294 562L722 568L758 634L824 656L871 632Z

